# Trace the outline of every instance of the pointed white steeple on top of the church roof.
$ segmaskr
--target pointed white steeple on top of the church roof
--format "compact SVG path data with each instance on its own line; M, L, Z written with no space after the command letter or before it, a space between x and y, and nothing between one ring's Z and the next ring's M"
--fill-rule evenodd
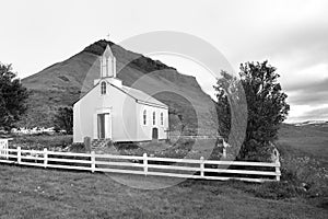
M108 44L101 57L101 78L116 78L116 58Z

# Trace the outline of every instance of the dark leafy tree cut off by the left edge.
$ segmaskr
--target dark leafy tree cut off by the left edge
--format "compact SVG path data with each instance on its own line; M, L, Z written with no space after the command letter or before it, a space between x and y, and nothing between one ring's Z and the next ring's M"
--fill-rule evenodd
M27 89L24 88L11 65L0 62L0 128L10 131L26 112Z

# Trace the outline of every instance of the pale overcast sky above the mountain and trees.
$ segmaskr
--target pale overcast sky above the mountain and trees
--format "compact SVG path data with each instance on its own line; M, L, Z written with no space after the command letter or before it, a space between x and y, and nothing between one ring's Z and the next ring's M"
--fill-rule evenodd
M20 78L108 33L119 43L148 32L183 32L214 46L236 71L242 62L269 60L289 95L289 123L328 120L326 0L0 0L0 61L12 64ZM202 77L207 70L195 61L152 58L196 76L211 93L214 78Z

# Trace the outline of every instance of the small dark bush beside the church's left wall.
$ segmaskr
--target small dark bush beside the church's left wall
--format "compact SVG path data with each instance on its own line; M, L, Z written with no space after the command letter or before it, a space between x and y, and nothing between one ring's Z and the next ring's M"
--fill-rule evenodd
M54 119L55 129L66 130L68 135L73 134L73 108L59 107Z

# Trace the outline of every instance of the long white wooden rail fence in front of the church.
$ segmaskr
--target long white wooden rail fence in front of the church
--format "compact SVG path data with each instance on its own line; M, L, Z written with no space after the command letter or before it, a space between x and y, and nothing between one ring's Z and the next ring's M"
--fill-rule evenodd
M52 169L83 170L91 172L127 173L184 178L241 180L248 182L280 181L280 162L242 162L194 159L154 158L147 153L114 155L91 153L55 152L44 149L0 149L0 163L15 163ZM235 166L236 170L233 170ZM239 166L239 168L237 168ZM253 170L247 170L247 168ZM255 169L270 169L255 170ZM230 174L230 175L229 175Z

